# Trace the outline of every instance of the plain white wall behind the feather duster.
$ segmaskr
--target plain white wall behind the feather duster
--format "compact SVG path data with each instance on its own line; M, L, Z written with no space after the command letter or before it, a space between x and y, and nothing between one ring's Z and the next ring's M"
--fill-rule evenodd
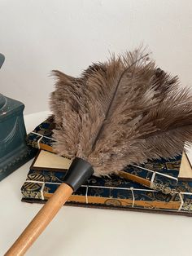
M141 42L192 86L191 0L0 0L0 92L24 102L25 113L46 110L50 70L77 76Z

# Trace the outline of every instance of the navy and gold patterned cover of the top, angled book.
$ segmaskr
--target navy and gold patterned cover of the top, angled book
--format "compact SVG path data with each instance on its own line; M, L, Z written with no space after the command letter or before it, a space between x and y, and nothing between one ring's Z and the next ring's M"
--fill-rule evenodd
M54 117L49 117L28 134L27 142L34 148L53 152L54 139L52 130L55 128ZM127 166L120 172L124 179L132 180L165 194L174 194L178 183L178 175L181 166L181 156L172 159L160 159L147 161L141 166Z

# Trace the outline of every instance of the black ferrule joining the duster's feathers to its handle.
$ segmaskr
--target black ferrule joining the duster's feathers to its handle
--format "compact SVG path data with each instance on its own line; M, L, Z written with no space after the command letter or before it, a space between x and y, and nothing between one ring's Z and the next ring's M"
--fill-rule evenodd
M92 174L94 174L94 169L89 162L76 157L64 177L64 183L76 191Z

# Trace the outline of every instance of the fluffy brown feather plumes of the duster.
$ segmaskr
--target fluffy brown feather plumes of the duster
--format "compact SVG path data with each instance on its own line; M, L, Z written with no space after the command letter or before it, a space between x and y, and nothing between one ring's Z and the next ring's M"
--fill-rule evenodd
M94 174L172 157L192 142L192 98L141 51L93 64L81 77L54 71L55 152L81 157Z

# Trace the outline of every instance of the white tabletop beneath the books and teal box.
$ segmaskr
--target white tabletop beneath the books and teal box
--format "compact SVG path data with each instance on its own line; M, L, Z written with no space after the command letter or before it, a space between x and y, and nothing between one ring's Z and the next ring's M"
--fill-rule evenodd
M26 116L27 130L33 130L47 115ZM41 205L20 201L20 188L31 163L0 183L0 255L41 209ZM26 255L192 255L191 232L192 218L185 216L63 206Z

